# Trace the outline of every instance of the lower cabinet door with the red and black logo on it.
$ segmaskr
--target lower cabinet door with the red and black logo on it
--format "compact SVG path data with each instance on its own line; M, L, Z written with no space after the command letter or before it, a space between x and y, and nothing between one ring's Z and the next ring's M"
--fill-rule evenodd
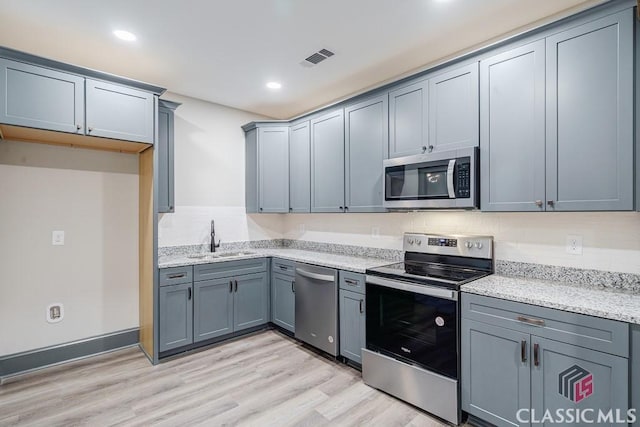
M536 336L531 343L538 346L538 363L532 352L531 364L531 408L536 414L592 409L595 412L589 418L597 419L598 410L605 414L613 410L614 417L619 410L626 418L628 359ZM612 421L596 425L614 425Z

